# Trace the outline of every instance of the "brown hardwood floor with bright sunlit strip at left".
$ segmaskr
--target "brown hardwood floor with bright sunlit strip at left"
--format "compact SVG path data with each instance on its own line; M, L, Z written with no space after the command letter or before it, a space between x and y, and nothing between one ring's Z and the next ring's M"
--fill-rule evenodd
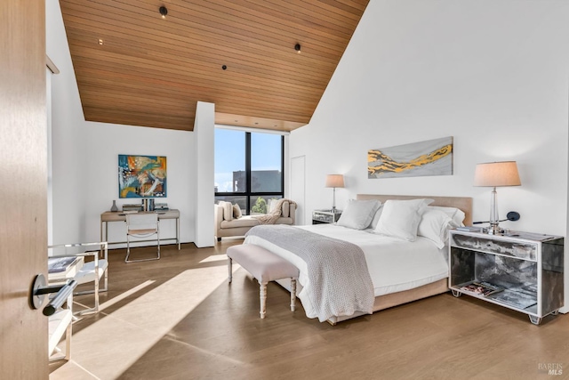
M330 326L259 287L225 250L164 246L162 259L125 264L110 251L101 311L76 321L71 360L52 379L566 379L569 317L533 326L525 314L450 294ZM137 248L132 255L152 255ZM92 296L77 296L87 306ZM562 374L549 375L549 368Z

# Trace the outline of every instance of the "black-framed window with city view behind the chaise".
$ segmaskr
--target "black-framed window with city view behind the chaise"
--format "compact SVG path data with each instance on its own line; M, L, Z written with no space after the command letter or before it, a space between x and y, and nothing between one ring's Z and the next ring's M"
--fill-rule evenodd
M241 207L243 214L265 214L269 199L284 196L284 137L215 129L215 201Z

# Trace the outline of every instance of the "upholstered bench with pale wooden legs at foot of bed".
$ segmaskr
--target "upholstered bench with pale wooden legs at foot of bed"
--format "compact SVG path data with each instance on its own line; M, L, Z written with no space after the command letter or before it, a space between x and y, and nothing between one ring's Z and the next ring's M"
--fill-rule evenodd
M284 260L281 256L275 255L265 248L253 244L228 247L227 255L229 258L229 282L233 279L232 264L234 260L259 281L261 319L265 318L266 314L268 281L274 281L276 279L291 279L291 311L294 311L296 279L299 277L297 267Z

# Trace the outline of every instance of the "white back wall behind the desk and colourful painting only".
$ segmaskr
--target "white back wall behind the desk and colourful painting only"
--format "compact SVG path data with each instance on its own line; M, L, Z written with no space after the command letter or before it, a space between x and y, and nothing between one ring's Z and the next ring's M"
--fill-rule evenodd
M140 199L118 199L118 155L165 156L167 159L167 198L156 198L180 210L180 240L194 241L195 205L192 178L195 178L194 134L130 125L84 122L85 147L83 190L86 190L85 236L100 239L100 213L110 210L113 199L119 210ZM87 179L88 178L88 179ZM176 235L174 220L160 222L160 238ZM109 223L108 241L124 241L124 223ZM213 236L213 235L212 235ZM213 238L212 238L213 239ZM166 242L168 243L168 242ZM172 241L169 243L173 244Z

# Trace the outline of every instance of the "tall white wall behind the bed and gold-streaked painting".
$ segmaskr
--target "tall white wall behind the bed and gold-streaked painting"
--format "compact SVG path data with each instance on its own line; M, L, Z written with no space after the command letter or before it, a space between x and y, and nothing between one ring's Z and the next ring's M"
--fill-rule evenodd
M468 196L486 221L491 189L472 186L475 166L512 159L522 186L498 189L498 206L521 220L501 224L566 236L567 20L566 1L371 1L310 124L290 136L290 157L306 156L305 219L332 206L325 174L345 174L339 206L357 193ZM445 136L453 175L367 178L367 150Z

